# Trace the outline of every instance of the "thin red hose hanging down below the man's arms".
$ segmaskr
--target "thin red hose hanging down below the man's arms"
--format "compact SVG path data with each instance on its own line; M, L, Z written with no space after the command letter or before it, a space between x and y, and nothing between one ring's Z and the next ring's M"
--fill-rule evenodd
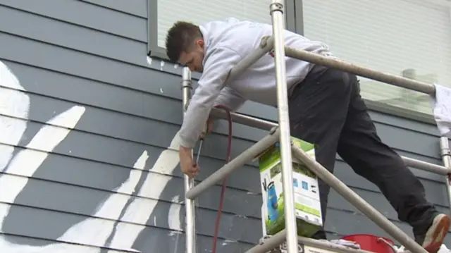
M230 162L230 156L232 152L232 116L230 115L230 110L226 106L215 106L216 108L223 109L227 113L227 120L228 120L228 143L227 143L227 159L226 163ZM221 223L221 214L223 214L223 202L224 197L226 195L226 185L227 185L227 178L223 179L223 185L221 187L221 197L219 199L219 207L218 212L216 213L216 223L214 228L214 237L213 237L213 249L212 253L216 253L216 242L218 242L218 232L219 232L219 224Z

